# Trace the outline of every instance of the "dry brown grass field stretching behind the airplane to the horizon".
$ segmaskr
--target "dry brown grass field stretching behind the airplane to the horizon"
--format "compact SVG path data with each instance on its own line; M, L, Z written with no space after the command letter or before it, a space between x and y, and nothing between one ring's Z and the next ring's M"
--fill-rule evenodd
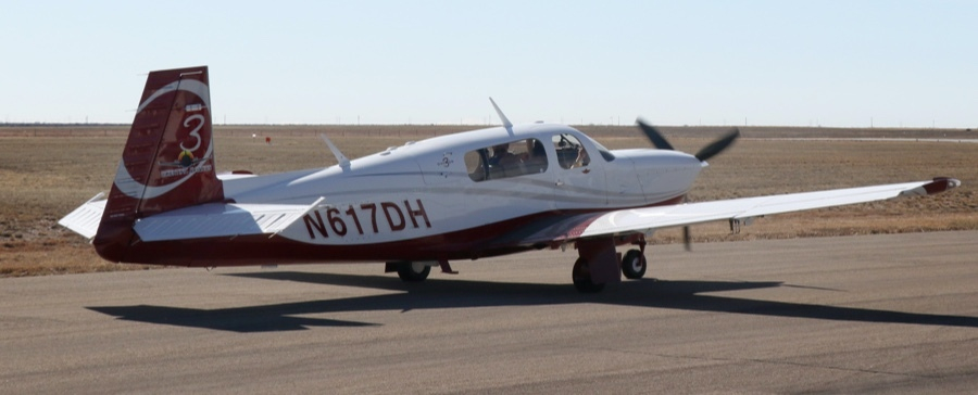
M472 126L217 126L218 171L258 174L323 167L336 161L317 138L326 132L351 157ZM579 127L611 149L648 146L631 127ZM127 127L0 127L0 277L141 269L102 262L59 218L114 177ZM677 149L695 152L724 128L672 127ZM711 161L691 201L958 178L945 194L763 218L730 234L727 224L693 227L697 241L978 229L978 143L800 139L976 139L971 130L741 128L743 139ZM256 135L258 138L252 138ZM264 137L272 144L264 143ZM669 243L679 232L662 231Z

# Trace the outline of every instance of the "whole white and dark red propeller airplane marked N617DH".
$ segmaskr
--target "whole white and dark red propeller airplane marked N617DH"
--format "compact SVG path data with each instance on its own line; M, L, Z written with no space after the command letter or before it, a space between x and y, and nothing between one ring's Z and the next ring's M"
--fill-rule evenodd
M706 160L734 130L695 154L651 125L655 148L609 150L565 125L513 125L438 136L337 164L283 174L218 174L208 67L151 72L108 197L59 224L114 263L220 267L384 263L406 282L432 266L546 249L576 249L574 286L599 292L640 279L645 245L663 228L929 195L953 178L685 203ZM619 246L630 247L618 253Z

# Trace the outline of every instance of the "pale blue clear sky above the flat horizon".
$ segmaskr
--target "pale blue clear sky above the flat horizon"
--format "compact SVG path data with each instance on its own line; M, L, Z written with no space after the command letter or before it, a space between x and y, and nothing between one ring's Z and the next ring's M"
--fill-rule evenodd
M0 122L978 127L975 1L3 1Z

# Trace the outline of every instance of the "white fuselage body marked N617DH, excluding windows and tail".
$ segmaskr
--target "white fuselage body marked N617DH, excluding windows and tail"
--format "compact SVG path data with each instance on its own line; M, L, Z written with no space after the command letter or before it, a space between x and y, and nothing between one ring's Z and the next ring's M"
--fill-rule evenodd
M586 166L559 165L557 148L549 142L562 135L576 138L589 153ZM546 169L499 179L472 178L466 153L526 139L547 142ZM478 245L547 216L677 203L701 168L700 161L681 152L610 152L570 127L532 124L409 142L350 161L344 167L223 182L225 196L239 204L309 205L322 197L317 208L278 235L301 244L337 247L336 254L311 259L403 259L408 249L396 245L417 241L434 245L418 249L412 243L410 250L425 250L431 256L411 258L437 260L496 255ZM386 257L384 249L376 247L384 243L402 251L391 251ZM471 250L459 249L469 243Z

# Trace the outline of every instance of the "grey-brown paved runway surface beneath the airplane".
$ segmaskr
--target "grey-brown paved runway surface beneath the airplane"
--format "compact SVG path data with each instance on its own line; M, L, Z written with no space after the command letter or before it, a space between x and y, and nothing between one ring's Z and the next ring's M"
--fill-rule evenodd
M594 295L574 251L0 279L0 393L978 388L976 231L650 249Z

